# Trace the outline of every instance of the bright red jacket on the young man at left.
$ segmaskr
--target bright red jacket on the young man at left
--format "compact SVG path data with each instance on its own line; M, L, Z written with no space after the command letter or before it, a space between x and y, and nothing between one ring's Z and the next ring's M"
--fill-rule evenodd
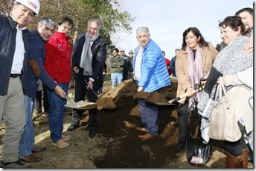
M45 43L45 70L57 83L71 81L71 51L72 45L68 42L71 37L65 33L55 31Z

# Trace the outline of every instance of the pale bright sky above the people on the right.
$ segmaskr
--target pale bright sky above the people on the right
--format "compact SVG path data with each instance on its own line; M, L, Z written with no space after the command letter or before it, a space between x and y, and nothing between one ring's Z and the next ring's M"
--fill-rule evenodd
M135 21L132 33L119 32L112 40L126 53L138 45L135 31L140 26L150 30L151 38L159 44L168 58L182 46L182 33L197 27L205 40L216 46L221 42L219 21L233 16L243 7L253 7L253 0L119 0L121 10L127 10Z

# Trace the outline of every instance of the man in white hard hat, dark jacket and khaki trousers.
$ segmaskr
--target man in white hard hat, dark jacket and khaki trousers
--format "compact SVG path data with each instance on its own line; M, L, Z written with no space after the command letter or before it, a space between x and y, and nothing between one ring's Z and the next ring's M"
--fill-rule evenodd
M19 141L26 120L20 77L28 68L28 30L39 13L38 0L16 0L10 13L0 13L0 118L4 119L1 167L28 168L18 159Z

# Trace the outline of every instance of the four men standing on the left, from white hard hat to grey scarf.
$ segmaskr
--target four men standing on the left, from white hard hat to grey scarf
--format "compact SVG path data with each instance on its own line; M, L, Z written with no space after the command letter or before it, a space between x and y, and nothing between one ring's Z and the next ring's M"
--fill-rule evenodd
M78 35L72 45L68 41L73 27L69 17L63 17L58 23L44 17L39 19L36 30L27 29L39 9L38 0L16 0L10 13L0 13L0 117L6 126L1 151L3 168L28 168L29 162L42 160L34 153L46 147L35 146L32 121L39 80L47 86L51 141L60 148L68 147L66 141L71 138L63 135L71 72L75 73L76 81L74 101L86 97L95 102L97 97L91 90L97 92L103 85L106 42L99 36L100 20L90 19L86 33ZM80 111L74 110L70 130L77 114ZM96 130L97 109L92 109L89 111L91 138Z

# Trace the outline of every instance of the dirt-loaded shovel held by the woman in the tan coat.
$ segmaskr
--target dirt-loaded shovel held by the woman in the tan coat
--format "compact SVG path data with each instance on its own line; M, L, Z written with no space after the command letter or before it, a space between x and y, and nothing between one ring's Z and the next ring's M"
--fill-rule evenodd
M180 99L185 98L185 97L187 97L188 95L197 93L197 92L199 92L199 91L201 91L201 90L202 90L202 87L199 87L198 89L193 90L191 93L185 93L185 94L183 94L183 95L179 95L179 97L173 98L173 99L171 99L170 101L167 101L167 102L165 102L165 101L162 100L162 99L161 99L161 101L156 101L156 99L158 98L156 95L158 95L158 94L151 93L151 94L148 95L148 97L146 98L146 101L147 101L147 103L157 104L157 105L159 105L159 106L171 106L171 105L175 105L175 104L173 104L174 102L179 101Z

